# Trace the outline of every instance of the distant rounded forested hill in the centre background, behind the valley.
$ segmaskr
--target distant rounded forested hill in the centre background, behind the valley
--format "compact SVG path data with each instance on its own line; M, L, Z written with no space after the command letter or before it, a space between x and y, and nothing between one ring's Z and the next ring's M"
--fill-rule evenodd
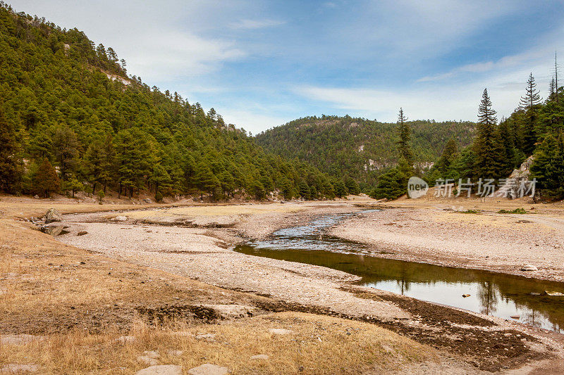
M439 159L448 139L467 146L473 122L410 121L414 161ZM350 116L304 117L258 134L257 143L278 155L310 163L332 176L350 176L369 191L384 170L398 163L398 125Z

